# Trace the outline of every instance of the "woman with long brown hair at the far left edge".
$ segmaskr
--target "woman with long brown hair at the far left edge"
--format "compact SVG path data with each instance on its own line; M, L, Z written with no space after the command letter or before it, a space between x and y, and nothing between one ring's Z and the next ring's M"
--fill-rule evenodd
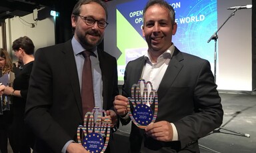
M0 90L3 90L5 85L13 85L15 74L11 72L12 70L13 65L11 57L5 49L0 49L0 82L3 84L0 86ZM0 103L0 151L2 153L7 153L8 138L11 146L13 144L13 137L11 136L11 123L13 121L11 96L3 94L2 92L0 96Z

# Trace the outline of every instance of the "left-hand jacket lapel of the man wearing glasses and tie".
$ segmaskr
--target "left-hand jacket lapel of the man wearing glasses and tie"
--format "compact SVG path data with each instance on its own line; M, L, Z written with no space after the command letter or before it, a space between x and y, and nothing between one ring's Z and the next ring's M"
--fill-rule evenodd
M79 79L77 75L77 65L75 64L75 57L71 45L71 41L67 41L64 43L65 48L62 51L64 54L64 61L67 74L70 74L69 81L71 82L71 88L73 90L73 94L75 94L75 101L77 102L78 110L81 114L81 117L83 116L83 110L82 110L82 101L81 101L81 91L80 91L80 85L79 85ZM83 120L83 118L82 118Z

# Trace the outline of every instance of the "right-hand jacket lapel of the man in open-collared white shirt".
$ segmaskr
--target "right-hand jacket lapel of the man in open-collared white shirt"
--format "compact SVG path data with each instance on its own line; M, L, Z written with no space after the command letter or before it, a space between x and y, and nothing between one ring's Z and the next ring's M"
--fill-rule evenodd
M171 61L167 67L165 75L163 75L163 79L159 84L159 89L157 91L159 95L165 95L165 93L167 92L166 89L170 88L171 85L173 84L173 81L177 78L177 75L183 68L183 64L180 63L180 61L182 60L183 60L183 56L181 52L175 47L173 57L171 58Z

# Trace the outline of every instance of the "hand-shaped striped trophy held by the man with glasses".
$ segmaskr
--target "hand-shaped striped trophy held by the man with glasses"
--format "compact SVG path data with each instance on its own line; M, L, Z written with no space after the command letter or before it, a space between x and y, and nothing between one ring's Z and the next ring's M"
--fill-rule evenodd
M104 152L107 148L111 125L109 118L103 119L105 116L105 110L95 107L85 114L83 126L77 128L78 143L89 152Z

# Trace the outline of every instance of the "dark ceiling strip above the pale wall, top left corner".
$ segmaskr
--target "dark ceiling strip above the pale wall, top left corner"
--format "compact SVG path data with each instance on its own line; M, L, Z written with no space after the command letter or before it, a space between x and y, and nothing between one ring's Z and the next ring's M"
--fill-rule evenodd
M11 17L23 17L41 7L55 7L57 0L1 0L0 21Z

